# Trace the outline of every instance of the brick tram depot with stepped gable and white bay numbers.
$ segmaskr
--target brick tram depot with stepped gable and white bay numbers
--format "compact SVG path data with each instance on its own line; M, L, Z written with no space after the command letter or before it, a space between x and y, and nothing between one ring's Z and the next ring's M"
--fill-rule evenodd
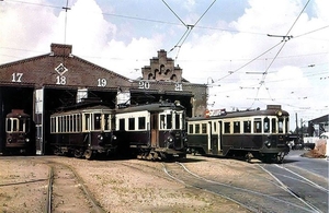
M47 152L50 114L82 98L101 99L113 108L123 103L180 100L189 117L204 115L207 86L184 80L182 69L164 50L141 68L141 75L131 80L72 55L72 46L60 44L52 44L49 54L1 64L0 153L5 140L4 118L12 109L32 115L37 154Z

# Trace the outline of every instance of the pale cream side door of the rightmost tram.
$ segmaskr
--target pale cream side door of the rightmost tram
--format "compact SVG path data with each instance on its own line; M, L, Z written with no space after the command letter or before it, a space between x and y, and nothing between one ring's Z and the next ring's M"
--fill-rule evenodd
M220 134L219 134L219 130L220 130L220 122L217 122L216 120L212 120L208 122L208 139L209 139L209 150L211 153L209 154L214 154L217 155L219 154L220 150L222 150L222 145L220 145Z

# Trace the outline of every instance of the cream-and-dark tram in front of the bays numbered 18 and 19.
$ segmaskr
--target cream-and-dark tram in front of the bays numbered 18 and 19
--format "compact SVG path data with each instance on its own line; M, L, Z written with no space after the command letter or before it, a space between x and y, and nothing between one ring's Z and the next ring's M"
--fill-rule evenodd
M56 155L92 159L115 154L114 110L104 105L83 106L50 115L50 146Z

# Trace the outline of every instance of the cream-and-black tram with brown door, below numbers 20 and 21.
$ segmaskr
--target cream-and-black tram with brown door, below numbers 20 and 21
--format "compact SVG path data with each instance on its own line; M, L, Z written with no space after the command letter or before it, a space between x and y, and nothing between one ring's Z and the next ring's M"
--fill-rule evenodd
M160 102L120 108L115 134L128 142L137 158L170 161L186 157L185 108L179 102Z

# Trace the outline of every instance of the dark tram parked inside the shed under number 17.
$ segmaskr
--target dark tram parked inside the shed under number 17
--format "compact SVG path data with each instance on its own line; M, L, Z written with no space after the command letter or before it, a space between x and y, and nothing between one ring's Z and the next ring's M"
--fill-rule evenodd
M7 154L35 154L34 126L29 114L23 109L12 109L5 116L5 147Z

